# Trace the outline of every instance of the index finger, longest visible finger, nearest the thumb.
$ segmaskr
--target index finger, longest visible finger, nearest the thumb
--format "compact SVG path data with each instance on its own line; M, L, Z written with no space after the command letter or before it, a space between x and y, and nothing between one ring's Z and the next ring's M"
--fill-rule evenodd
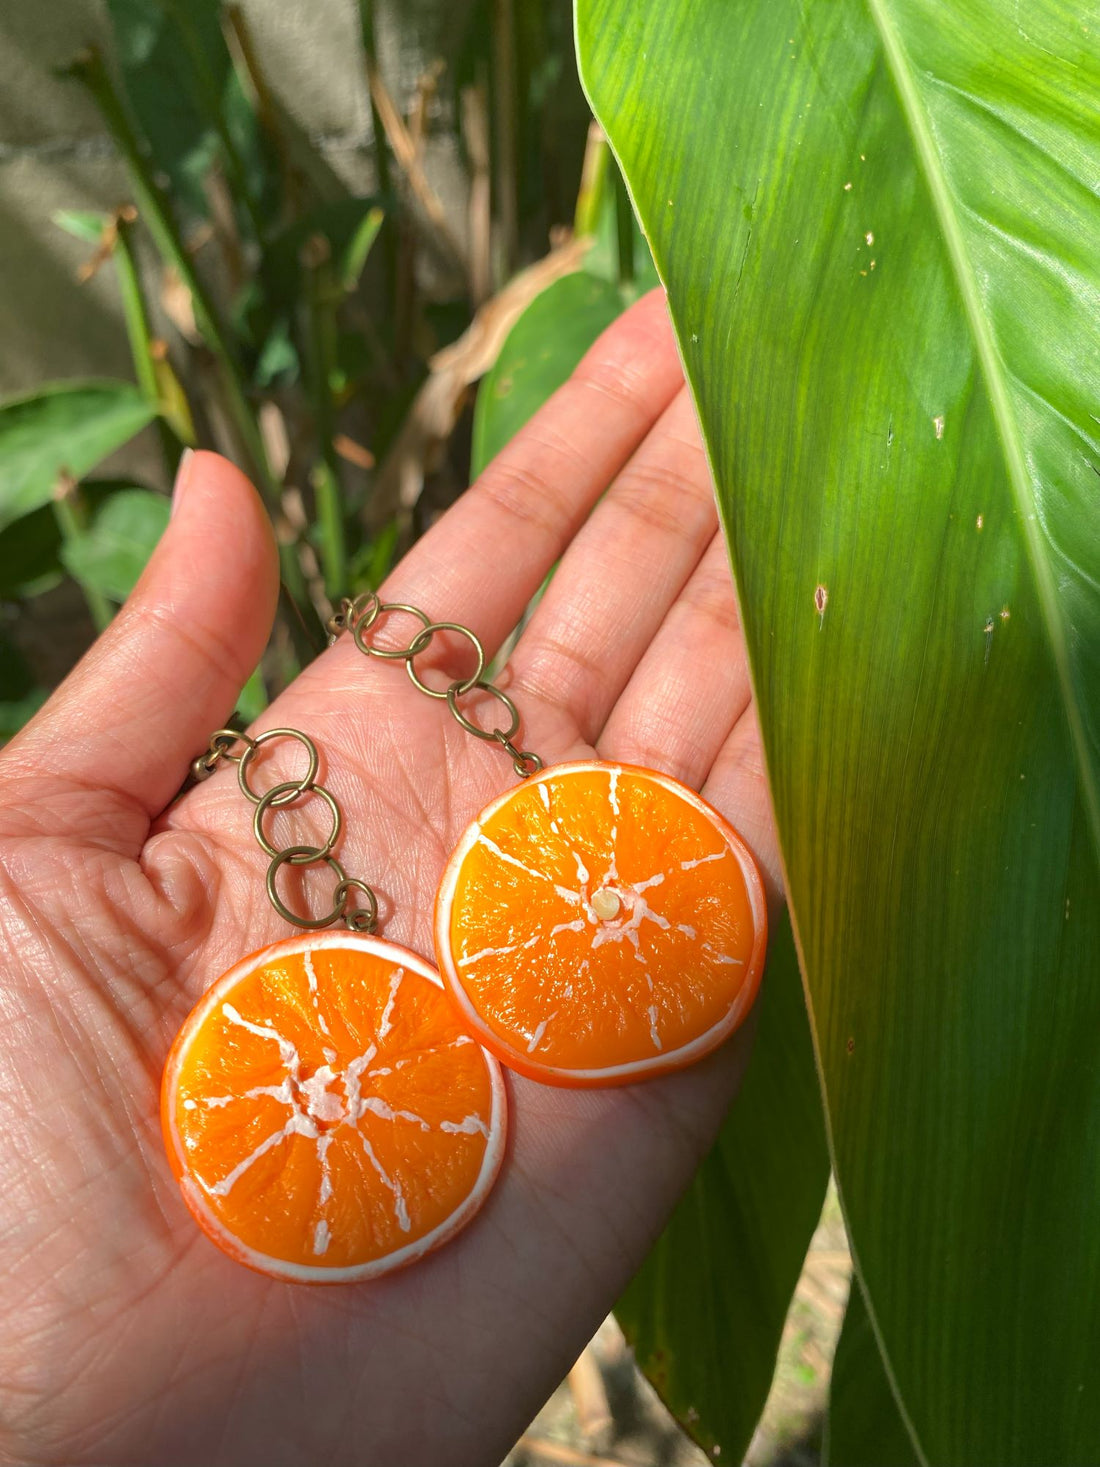
M469 623L499 647L682 381L664 292L653 290L412 547L383 599ZM380 626L377 640L397 645L406 631Z

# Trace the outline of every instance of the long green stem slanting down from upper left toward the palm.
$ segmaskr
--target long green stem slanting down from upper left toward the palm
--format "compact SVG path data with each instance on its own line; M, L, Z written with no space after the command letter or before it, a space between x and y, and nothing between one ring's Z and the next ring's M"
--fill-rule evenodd
M100 109L100 113L107 125L107 131L111 133L119 151L126 160L135 198L138 201L138 210L145 220L161 257L173 266L180 280L191 292L195 324L217 361L219 376L224 392L226 411L233 422L238 437L241 439L241 446L255 475L257 486L267 500L270 512L273 515L279 515L282 512L282 486L276 481L268 465L264 442L260 436L260 428L245 393L236 356L221 329L214 304L191 264L191 257L188 255L179 229L176 227L176 222L172 217L169 201L163 189L157 186L157 182L153 178L148 158L138 142L138 136L131 126L129 117L126 116L126 109L123 107L122 100L114 89L114 84L107 73L103 56L95 47L89 47L76 57L69 70L70 75L75 76L76 81L82 82L91 92L92 100ZM286 582L290 599L299 609L296 621L301 626L308 626L311 629L311 651L320 651L324 647L324 632L317 616L312 613L312 609L309 609L308 613L305 612L305 607L309 607L309 600L305 577L302 575L302 568L298 563L295 547L280 544L279 557L283 581ZM298 625L293 628L293 635L301 643Z

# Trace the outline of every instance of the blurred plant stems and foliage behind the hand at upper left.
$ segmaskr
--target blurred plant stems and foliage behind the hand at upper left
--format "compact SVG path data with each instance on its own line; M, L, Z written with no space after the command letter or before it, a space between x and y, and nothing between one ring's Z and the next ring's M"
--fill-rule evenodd
M637 289L588 248L622 210L571 7L65 0L0 28L0 734L125 599L186 445L248 469L283 547L251 717L466 484L471 389L527 302L581 264L582 317Z

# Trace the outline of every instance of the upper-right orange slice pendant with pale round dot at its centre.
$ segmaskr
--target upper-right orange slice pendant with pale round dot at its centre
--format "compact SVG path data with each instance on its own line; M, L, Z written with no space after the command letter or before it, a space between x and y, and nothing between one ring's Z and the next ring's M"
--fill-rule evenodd
M760 871L692 789L557 764L494 800L436 902L447 989L481 1043L562 1086L644 1080L717 1047L767 945Z

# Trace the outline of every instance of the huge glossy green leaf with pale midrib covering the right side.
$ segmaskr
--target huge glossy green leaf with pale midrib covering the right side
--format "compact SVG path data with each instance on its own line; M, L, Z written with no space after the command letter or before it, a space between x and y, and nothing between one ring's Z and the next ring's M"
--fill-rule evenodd
M1100 13L578 0L924 1460L1100 1461Z

